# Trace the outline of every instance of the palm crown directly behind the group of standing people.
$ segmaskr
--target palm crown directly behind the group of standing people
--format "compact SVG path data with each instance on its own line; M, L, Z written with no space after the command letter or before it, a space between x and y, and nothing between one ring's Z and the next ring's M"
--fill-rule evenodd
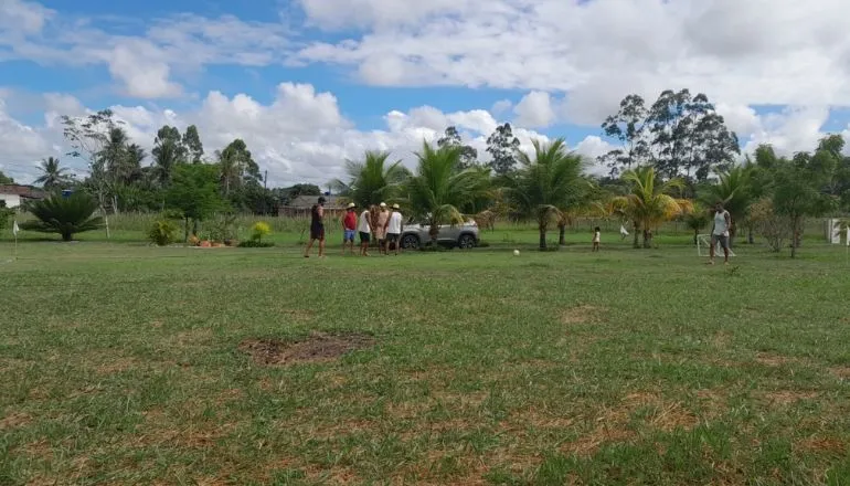
M362 161L346 162L348 183L334 180L331 184L359 208L395 199L411 173L401 160L387 165L389 158L390 152L366 150Z

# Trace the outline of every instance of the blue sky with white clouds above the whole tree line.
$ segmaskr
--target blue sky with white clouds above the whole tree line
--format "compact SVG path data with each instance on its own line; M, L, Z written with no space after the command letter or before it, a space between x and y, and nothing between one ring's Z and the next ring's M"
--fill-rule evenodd
M850 8L733 3L3 0L0 141L18 147L0 170L34 176L64 154L56 116L105 107L146 147L166 123L198 125L209 152L242 137L279 183L341 177L366 149L412 163L447 125L482 156L510 122L523 147L565 137L595 158L619 99L663 88L705 92L745 150L846 131L850 43L824 32Z

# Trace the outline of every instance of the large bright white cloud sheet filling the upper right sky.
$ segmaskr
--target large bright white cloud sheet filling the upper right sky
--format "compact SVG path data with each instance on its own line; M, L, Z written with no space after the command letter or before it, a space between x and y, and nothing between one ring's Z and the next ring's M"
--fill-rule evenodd
M370 84L564 92L569 119L588 125L626 94L668 87L733 105L850 106L844 0L301 3L312 22L362 34L300 57Z

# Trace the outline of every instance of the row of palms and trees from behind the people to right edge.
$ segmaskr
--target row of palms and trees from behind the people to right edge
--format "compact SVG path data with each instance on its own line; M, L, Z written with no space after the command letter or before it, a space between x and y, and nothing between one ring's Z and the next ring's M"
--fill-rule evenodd
M723 202L732 215L732 241L743 228L748 242L764 235L778 251L794 236L796 255L807 216L850 211L850 157L843 139L830 135L814 152L778 157L762 146L743 165L714 169L715 179L666 177L655 163L644 161L618 178L584 173L587 161L566 150L563 139L533 144L532 152L516 151L519 167L497 175L491 167L468 165L463 146L425 144L417 154L415 172L387 152L366 152L349 162L349 180L337 181L342 193L360 207L397 201L432 226L461 221L461 214L484 211L512 219L532 219L546 249L552 225L564 230L580 215L628 221L635 247L652 246L652 234L670 220L681 219L695 235L711 224L712 208ZM642 242L641 242L642 236Z

